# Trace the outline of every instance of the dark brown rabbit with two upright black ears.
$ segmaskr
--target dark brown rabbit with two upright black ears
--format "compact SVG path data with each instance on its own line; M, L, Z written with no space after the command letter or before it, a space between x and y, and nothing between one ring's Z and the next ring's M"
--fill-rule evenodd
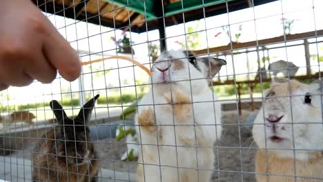
M88 101L75 119L57 101L50 102L57 125L41 136L33 154L33 181L97 181L99 161L87 123L99 95Z

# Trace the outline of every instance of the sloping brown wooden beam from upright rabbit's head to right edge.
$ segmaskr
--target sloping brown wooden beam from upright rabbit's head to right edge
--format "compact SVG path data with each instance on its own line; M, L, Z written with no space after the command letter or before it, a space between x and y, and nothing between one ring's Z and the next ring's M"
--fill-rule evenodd
M231 50L238 50L238 49L244 49L244 48L254 48L257 45L262 46L266 44L273 44L273 43L284 43L285 41L296 41L296 40L302 40L302 39L310 39L314 37L321 37L323 36L323 30L317 30L316 34L315 31L313 32L304 32L300 34L287 34L286 39L284 36L280 37L274 37L270 39L262 39L258 41L249 41L249 42L243 42L243 43L232 43L233 48L231 49L231 45L224 45L217 48L209 48L204 50L195 50L195 54L208 54L208 51L210 53L215 52L224 52L224 51L231 51Z

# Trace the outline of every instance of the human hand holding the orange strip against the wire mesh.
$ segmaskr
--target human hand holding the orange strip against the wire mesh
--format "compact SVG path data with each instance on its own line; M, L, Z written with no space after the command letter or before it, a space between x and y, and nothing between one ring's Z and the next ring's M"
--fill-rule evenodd
M79 77L77 52L32 1L2 0L0 27L0 90L50 83L57 70L68 81Z

